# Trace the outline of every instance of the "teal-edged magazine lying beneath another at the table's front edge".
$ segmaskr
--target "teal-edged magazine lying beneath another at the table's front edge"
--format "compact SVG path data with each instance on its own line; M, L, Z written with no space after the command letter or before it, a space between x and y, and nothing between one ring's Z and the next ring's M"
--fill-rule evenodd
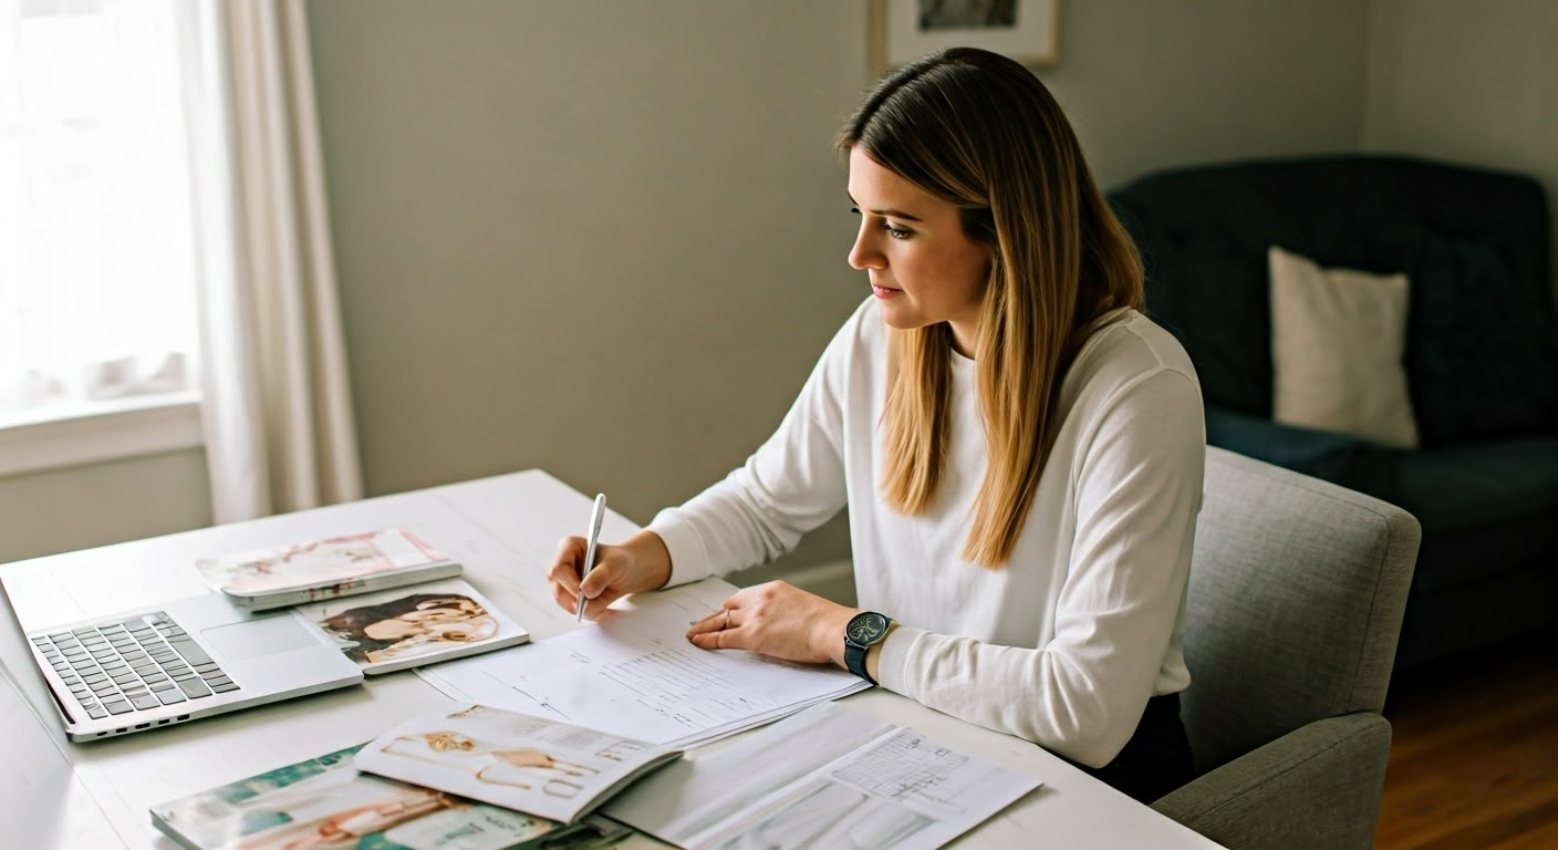
M562 825L360 774L361 744L151 808L189 850L583 850L629 833L606 819Z

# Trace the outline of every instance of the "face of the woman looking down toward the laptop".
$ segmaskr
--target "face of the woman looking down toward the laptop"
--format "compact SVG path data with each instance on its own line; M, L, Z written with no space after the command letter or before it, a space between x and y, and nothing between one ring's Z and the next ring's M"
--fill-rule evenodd
M849 197L860 212L849 265L871 274L882 318L902 331L946 321L958 352L974 357L989 246L963 232L958 207L879 165L860 145L849 151Z

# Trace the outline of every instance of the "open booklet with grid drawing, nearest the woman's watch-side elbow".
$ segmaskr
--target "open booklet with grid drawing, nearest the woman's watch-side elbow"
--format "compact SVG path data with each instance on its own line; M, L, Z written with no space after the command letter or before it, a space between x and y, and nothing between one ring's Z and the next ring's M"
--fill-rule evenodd
M1039 784L918 731L816 705L723 750L682 758L601 811L687 848L930 850Z

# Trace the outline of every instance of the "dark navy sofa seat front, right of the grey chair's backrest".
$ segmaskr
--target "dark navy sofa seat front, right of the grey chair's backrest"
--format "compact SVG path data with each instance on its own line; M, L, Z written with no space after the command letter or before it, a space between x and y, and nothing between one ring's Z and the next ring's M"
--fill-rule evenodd
M1393 502L1422 524L1415 593L1480 583L1558 552L1558 438L1394 459Z

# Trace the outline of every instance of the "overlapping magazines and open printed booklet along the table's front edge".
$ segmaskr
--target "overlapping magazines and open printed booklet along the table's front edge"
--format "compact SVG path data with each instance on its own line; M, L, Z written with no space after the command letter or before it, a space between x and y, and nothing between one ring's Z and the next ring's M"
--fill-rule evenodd
M586 850L636 831L690 850L935 850L1042 784L834 703L681 755L464 705L151 820L190 850Z

